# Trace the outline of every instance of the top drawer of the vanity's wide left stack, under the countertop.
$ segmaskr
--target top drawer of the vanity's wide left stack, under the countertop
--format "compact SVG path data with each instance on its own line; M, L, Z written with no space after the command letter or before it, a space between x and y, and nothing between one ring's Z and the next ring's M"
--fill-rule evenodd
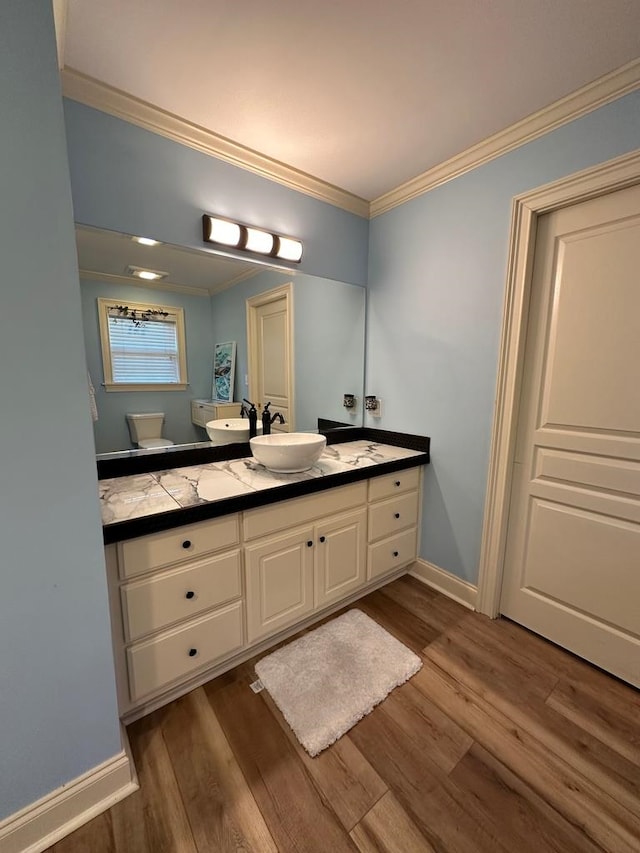
M225 515L211 521L189 524L166 533L130 539L118 545L120 577L131 578L153 569L170 566L237 545L238 516Z

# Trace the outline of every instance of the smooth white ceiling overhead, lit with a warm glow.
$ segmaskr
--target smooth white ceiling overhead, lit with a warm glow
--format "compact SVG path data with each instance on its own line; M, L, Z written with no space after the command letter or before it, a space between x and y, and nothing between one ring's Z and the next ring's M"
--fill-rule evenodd
M75 69L371 201L640 56L640 0L68 0Z

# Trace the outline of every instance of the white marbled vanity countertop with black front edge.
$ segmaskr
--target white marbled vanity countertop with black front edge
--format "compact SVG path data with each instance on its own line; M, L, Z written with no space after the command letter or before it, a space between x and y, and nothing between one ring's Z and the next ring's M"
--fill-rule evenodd
M428 462L424 451L364 440L328 445L299 474L267 471L252 456L99 481L106 544L238 512Z

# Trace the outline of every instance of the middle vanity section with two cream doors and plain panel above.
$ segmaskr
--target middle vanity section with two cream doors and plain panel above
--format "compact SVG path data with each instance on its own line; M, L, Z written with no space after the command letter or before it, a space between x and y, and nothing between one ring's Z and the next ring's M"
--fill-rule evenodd
M249 643L364 585L366 497L355 483L244 513Z

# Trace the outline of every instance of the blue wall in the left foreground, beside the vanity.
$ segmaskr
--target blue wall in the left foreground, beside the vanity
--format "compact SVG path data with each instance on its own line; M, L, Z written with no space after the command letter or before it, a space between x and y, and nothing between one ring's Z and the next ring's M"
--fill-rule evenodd
M3 0L0 107L1 820L121 746L55 35L42 0Z

